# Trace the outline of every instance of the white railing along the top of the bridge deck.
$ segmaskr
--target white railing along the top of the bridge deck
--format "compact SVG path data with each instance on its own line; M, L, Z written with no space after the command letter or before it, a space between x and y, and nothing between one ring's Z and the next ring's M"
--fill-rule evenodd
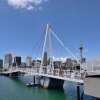
M71 78L71 79L83 79L83 77L86 75L85 72L75 71L75 70L61 70L61 69L54 69L52 71L51 68L43 68L42 73L39 73L39 68L21 68L22 71L25 71L29 75L37 75L37 74L43 74L43 75L50 75L50 76L56 76L56 77L62 77L62 78ZM53 73L52 73L53 72Z

